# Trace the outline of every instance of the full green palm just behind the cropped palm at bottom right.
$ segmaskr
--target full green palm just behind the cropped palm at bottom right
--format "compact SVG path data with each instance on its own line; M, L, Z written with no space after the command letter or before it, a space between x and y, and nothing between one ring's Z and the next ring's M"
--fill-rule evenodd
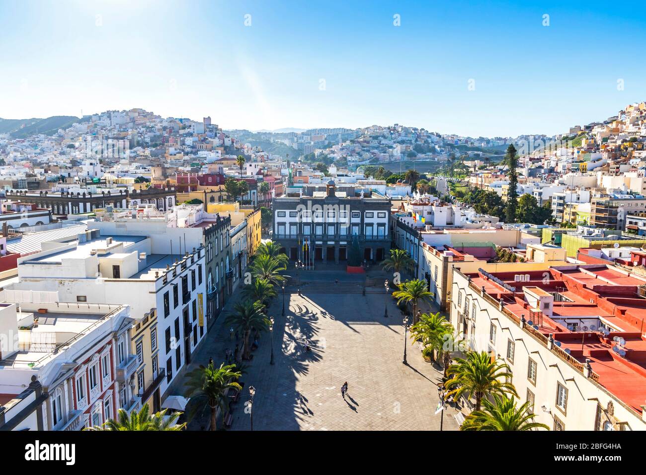
M451 364L446 374L450 377L445 383L447 396L475 397L475 410L480 410L483 399L494 394L509 393L518 397L514 385L508 382L512 377L509 366L497 363L485 352L468 352L466 358L458 358Z

